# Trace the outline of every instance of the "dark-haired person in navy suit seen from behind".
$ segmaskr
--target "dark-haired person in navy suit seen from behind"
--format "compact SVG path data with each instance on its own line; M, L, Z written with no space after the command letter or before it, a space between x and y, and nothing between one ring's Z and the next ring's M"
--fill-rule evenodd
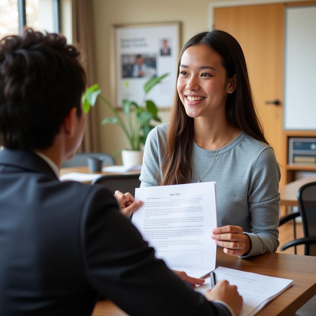
M0 315L87 316L98 294L130 315L237 314L236 287L194 292L199 279L156 259L109 191L59 181L85 127L78 56L31 29L0 42ZM119 198L125 215L137 203Z

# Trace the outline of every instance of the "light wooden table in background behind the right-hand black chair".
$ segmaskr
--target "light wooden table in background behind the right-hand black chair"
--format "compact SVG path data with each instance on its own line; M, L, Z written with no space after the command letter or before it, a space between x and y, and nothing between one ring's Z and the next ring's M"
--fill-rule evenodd
M297 192L299 188L307 184L309 182L314 182L316 181L315 177L308 177L308 178L303 178L299 180L295 180L293 182L288 183L287 185L284 185L282 188L280 188L280 205L285 205L285 206L298 206L297 202Z

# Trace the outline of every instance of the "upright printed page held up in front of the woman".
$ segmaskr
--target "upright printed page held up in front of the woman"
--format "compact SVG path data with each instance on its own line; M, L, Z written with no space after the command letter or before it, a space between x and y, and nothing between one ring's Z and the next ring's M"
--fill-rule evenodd
M157 258L193 277L215 269L216 182L137 188L135 200L143 205L132 223Z

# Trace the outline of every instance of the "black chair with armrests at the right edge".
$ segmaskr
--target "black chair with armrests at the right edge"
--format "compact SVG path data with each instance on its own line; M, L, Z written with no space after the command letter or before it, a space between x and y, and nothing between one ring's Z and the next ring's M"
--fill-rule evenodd
M301 216L304 237L289 241L281 247L281 250L304 245L304 254L306 256L316 256L316 182L301 186L297 193L297 198L299 212L283 216L280 219L280 225L289 220L293 220L295 223L295 218ZM296 238L296 235L294 238ZM313 316L315 313L316 295L296 312L296 316Z

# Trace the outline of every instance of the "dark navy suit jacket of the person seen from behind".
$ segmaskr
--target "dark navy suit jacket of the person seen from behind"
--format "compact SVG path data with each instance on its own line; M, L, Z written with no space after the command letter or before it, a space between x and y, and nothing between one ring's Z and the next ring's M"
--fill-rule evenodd
M0 151L0 315L90 315L98 293L130 315L230 315L155 258L106 189Z

